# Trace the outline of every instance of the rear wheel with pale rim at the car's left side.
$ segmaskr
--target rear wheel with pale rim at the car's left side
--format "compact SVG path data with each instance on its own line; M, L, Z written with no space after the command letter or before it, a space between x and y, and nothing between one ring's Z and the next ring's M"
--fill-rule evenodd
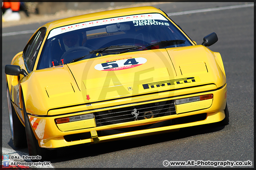
M27 138L26 138L26 131L25 127L21 123L14 106L11 103L9 88L7 85L7 105L8 105L8 114L9 114L9 123L10 123L10 130L11 130L11 138L14 147L21 148L27 146Z

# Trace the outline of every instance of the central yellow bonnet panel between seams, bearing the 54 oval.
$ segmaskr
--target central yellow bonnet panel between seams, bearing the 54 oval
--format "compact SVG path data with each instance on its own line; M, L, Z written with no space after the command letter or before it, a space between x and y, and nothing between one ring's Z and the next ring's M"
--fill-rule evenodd
M107 55L68 67L80 91L96 100L144 93L142 84L177 76L165 49Z

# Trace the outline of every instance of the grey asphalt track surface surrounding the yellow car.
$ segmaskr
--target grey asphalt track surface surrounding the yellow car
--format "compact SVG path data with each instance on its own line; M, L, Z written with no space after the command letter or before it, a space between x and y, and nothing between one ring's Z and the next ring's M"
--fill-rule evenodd
M173 2L155 5L170 16L197 44L215 32L218 42L210 46L220 52L228 85L229 125L196 127L148 137L69 147L54 152L47 160L54 168L212 168L214 166L164 166L165 160L251 161L254 167L254 7L201 11L208 8L243 5L244 2ZM250 4L250 3L249 3ZM199 10L181 15L174 12ZM172 13L172 14L171 14ZM176 13L177 14L177 13ZM9 32L36 30L44 23L4 28ZM32 33L2 37L2 151L28 154L27 148L12 145L7 117L4 66L23 50ZM222 168L222 166L218 166ZM231 166L225 166L230 168Z

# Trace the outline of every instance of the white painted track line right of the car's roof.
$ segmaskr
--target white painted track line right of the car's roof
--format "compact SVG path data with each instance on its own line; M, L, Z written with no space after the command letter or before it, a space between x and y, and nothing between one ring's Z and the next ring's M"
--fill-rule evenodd
M202 10L191 10L191 11L182 11L182 12L172 12L167 13L168 16L175 16L175 15L185 15L191 13L199 13L199 12L209 12L209 11L219 11L219 10L229 10L234 8L244 8L244 7L252 7L254 4L244 4L244 5L234 5L234 6L223 6L223 7L216 7L216 8L207 8Z

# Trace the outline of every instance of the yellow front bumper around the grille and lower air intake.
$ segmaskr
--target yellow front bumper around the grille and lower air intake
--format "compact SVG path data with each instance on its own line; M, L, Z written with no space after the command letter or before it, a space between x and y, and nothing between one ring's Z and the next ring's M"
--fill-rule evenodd
M74 113L68 115L52 115L47 117L38 117L29 114L28 117L34 131L34 135L38 140L39 146L44 148L59 148L78 145L82 143L92 144L95 143L95 131L98 134L98 140L103 142L118 140L127 137L137 137L139 135L151 135L157 132L169 132L170 130L177 130L189 126L215 123L223 120L225 118L224 109L226 105L226 85L217 90L205 90L204 92L199 92L200 89L202 91L202 89L204 88L195 87L193 90L190 89L190 91L193 91L193 93L187 93L187 95L172 95L176 97L170 97L170 92L165 92L165 94L159 94L159 99L156 98L154 102L213 94L213 100L210 107L198 109L196 111L165 115L162 117L150 119L135 120L125 123L109 124L102 126L96 126L96 124L92 123L91 126L94 127L91 128L86 126L86 128L84 129L78 128L77 130L61 131L55 124L55 119L66 116L73 116ZM146 97L148 99L148 96L145 96L145 98ZM186 104L185 106L188 107L188 104ZM93 112L94 111L89 111L88 113ZM178 121L178 123L176 121L180 119L190 119L194 115L198 115L199 119L196 118L191 119L191 121ZM159 125L159 127L156 127L156 125ZM92 136L92 134L94 134L94 136Z

